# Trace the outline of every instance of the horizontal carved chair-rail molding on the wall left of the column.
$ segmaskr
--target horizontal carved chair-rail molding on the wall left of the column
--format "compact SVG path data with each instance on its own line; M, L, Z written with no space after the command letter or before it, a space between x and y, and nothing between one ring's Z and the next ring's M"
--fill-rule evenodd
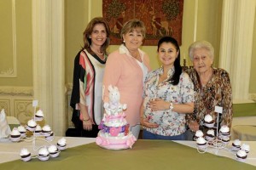
M0 87L0 95L24 95L24 96L32 96L33 89L32 87L15 87L15 86L1 86Z

